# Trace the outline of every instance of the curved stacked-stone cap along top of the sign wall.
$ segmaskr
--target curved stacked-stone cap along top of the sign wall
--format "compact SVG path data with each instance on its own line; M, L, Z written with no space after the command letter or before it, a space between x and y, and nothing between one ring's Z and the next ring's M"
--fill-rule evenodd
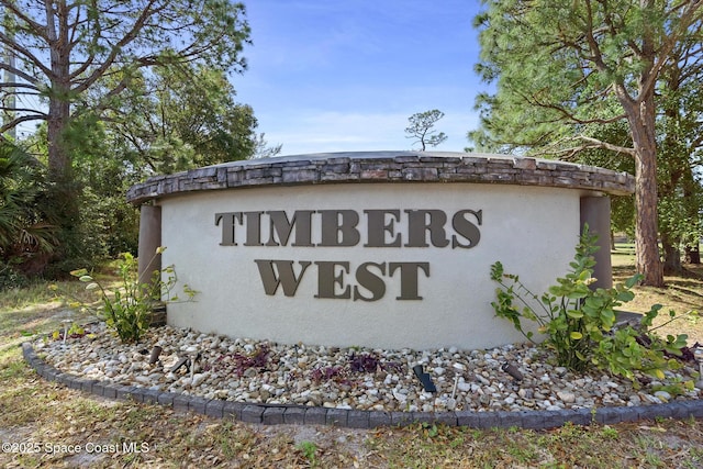
M292 155L155 176L127 191L141 204L186 192L348 182L472 182L633 193L635 179L594 166L551 159L458 152L352 152Z

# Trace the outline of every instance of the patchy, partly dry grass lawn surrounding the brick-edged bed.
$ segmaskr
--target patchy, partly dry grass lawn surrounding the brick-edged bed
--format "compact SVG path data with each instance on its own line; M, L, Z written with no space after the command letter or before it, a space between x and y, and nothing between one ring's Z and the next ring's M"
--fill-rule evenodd
M632 253L617 249L613 265L616 280L631 276ZM703 305L703 268L667 281L665 289L637 288L627 309L646 311L659 302L683 312ZM83 294L78 282L66 288ZM51 333L69 315L46 284L0 294L0 440L24 451L3 445L1 467L703 467L703 421L695 420L550 431L429 425L357 431L261 426L99 399L45 382L22 360L18 346L27 334ZM663 331L685 332L703 343L701 324L693 321Z

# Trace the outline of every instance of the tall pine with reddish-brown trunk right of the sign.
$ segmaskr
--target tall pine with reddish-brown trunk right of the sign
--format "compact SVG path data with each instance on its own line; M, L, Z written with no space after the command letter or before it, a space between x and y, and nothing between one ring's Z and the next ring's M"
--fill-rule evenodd
M657 83L676 48L700 35L701 0L484 0L479 72L495 81L480 97L478 141L562 154L604 148L635 161L635 246L644 283L663 284L658 248ZM700 42L700 41L699 41ZM703 56L691 57L703 60ZM589 129L625 121L632 146ZM524 130L523 127L529 127ZM570 145L565 145L565 137Z

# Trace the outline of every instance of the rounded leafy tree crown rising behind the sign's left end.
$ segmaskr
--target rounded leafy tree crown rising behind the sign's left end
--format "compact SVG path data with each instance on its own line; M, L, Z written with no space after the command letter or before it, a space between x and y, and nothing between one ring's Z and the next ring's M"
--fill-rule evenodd
M194 69L193 69L194 68ZM256 153L254 111L236 103L225 75L204 67L156 67L105 113L125 156L144 175L245 159Z

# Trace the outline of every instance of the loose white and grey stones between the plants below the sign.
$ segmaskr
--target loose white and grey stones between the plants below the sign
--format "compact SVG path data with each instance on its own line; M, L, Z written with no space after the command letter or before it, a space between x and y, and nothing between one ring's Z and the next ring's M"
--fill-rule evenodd
M149 335L152 332L149 332ZM235 347L227 359L222 359L225 348L210 348L215 336L187 334L172 327L164 327L154 332L163 344L163 366L149 366L144 360L122 364L120 356L132 357L144 345L123 345L111 334L100 334L94 342L72 340L66 346L60 343L47 342L44 346L44 357L47 364L60 371L74 370L86 379L104 380L109 382L141 386L148 389L168 390L207 399L230 399L238 402L276 401L292 402L301 405L323 405L324 402L336 407L349 406L360 410L409 411L432 407L433 412L450 409L466 410L506 410L523 411L534 409L582 409L601 407L607 405L639 405L660 403L671 400L668 393L657 395L638 393L632 388L629 380L624 378L603 376L593 379L590 376L576 378L572 373L559 376L557 368L547 365L543 357L531 365L531 376L520 383L505 381L505 375L492 367L483 355L495 357L499 362L524 364L526 357L534 354L528 346L500 347L490 350L457 351L458 357L449 357L447 351L439 350L383 350L355 348L355 353L375 353L384 358L384 362L400 365L398 371L386 369L367 373L348 373L345 380L323 379L312 381L312 370L326 367L348 366L349 349L333 347L297 348L284 345L271 345L271 360L263 369L250 368L246 376L238 377L235 372L235 354L246 354L244 347L253 349L259 346L254 340L233 339L228 347ZM179 373L169 372L170 367L182 356L181 349L194 347L200 339L202 348L201 364L210 371L196 371L192 375L181 368ZM145 337L145 343L156 340ZM99 345L99 346L97 346ZM97 355L93 355L97 354ZM90 358L92 357L92 358ZM305 357L299 365L299 358ZM426 359L425 369L429 370L433 381L437 384L437 393L422 390L412 366ZM135 365L136 364L136 365ZM461 364L471 370L468 377L457 375L455 364ZM437 376L435 368L444 368L445 373ZM453 372L447 372L449 369ZM456 371L455 371L456 370ZM691 367L684 367L674 378L690 380L695 376ZM549 372L549 382L543 383L538 378ZM205 378L207 376L207 378ZM455 378L456 389L454 388ZM569 376L569 379L566 378ZM468 378L468 382L467 382ZM574 379L576 378L576 379ZM672 379L674 379L672 378ZM486 382L481 387L481 382ZM615 384L615 386L613 386ZM668 378L660 380L658 386L668 386ZM450 398L454 398L454 402ZM574 398L574 399L572 399ZM698 391L687 393L679 399L698 399Z

